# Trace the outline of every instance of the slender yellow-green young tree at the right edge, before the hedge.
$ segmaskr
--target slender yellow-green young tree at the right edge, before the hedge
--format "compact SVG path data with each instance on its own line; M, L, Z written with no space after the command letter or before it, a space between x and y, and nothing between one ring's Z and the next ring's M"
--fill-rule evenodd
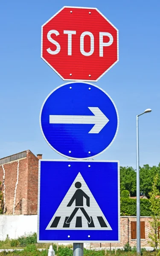
M152 188L149 192L150 196L150 209L152 211L151 217L152 221L150 221L151 232L148 234L148 237L151 239L148 243L151 247L154 247L154 250L157 251L157 247L160 247L160 239L158 238L158 227L160 226L160 199L156 198L159 195L160 191L157 189L157 181L158 174L153 179Z

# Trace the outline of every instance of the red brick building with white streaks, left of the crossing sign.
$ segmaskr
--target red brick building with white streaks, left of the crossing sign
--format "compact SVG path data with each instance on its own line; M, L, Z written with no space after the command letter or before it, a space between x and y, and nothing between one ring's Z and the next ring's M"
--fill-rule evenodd
M37 214L38 160L30 151L0 159L0 181L3 191L3 214Z

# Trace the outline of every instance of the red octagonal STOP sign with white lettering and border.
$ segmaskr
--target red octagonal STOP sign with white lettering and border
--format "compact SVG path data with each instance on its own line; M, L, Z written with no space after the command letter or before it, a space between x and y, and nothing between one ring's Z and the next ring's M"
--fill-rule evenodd
M42 26L41 58L64 81L98 81L118 58L118 29L96 8L64 6Z

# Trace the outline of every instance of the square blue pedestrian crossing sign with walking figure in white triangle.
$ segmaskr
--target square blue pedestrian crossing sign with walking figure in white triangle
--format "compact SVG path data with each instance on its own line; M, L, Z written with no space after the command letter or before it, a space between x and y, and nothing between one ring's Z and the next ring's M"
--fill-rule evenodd
M38 242L118 242L119 162L40 160Z

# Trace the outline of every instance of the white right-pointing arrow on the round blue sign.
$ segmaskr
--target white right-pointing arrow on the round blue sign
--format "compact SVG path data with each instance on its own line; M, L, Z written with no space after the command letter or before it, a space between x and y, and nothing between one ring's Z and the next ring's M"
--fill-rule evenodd
M49 115L50 124L93 124L89 131L92 134L98 134L109 122L107 116L97 107L88 107L94 116L58 116Z

